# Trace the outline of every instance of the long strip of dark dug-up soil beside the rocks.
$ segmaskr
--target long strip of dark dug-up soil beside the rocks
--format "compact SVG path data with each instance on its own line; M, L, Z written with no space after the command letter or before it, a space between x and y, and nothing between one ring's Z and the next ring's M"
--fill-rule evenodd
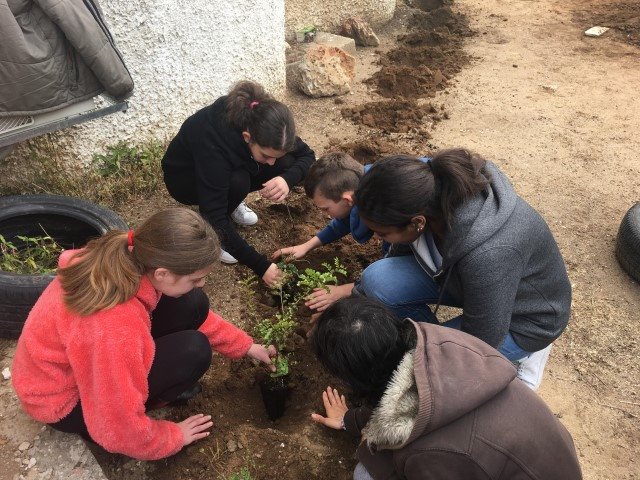
M471 31L450 2L416 3L424 10L411 9L409 31L397 37L396 48L381 54L380 70L365 81L390 100L344 108L342 115L383 134L413 134L420 141L430 138L432 126L448 115L444 106L419 99L435 96L468 62L462 42Z

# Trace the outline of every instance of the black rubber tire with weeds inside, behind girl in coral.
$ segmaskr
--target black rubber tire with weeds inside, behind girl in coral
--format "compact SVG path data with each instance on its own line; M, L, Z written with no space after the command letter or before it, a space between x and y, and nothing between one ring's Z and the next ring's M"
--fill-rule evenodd
M0 234L38 236L42 229L63 248L78 248L109 230L126 230L113 211L86 200L60 195L0 197ZM31 307L54 275L0 271L0 337L18 338Z

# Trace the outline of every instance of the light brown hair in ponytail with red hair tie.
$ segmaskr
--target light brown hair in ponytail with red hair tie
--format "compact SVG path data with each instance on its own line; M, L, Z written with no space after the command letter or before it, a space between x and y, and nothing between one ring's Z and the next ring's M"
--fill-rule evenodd
M162 267L188 275L212 265L219 252L215 232L196 212L163 210L135 236L114 230L77 252L69 266L58 270L64 302L82 316L106 310L132 298L146 272Z

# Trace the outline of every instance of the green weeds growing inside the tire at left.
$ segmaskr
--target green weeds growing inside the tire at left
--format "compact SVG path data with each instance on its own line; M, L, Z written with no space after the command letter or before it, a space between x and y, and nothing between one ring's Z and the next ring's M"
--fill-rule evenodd
M0 235L0 270L27 275L54 272L62 247L47 232L44 233L42 237L17 235L16 238L22 242L20 246Z

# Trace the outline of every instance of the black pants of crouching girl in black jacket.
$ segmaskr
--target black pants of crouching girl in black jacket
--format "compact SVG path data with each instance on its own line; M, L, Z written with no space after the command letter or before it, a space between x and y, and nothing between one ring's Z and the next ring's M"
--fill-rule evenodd
M227 214L230 215L249 192L255 192L262 188L262 184L282 175L293 164L295 158L291 154L276 160L273 165L255 162L251 165L251 171L240 168L231 172L229 178L229 194L227 197ZM193 173L164 176L164 183L169 194L183 205L199 205L196 188L196 178Z

